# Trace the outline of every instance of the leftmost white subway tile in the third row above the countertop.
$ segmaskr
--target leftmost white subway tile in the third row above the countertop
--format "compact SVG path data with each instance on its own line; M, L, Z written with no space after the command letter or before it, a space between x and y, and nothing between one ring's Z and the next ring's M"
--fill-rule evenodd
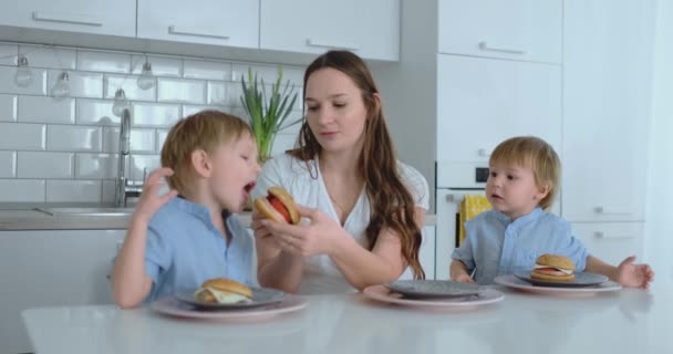
M43 150L44 124L0 123L0 149Z

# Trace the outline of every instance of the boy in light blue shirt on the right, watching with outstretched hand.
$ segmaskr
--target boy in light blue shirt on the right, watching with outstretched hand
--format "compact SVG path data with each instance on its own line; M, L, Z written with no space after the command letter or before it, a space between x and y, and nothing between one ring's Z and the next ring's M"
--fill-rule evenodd
M530 271L539 256L555 253L570 258L577 271L648 288L654 278L648 264L634 264L635 257L619 267L604 263L572 236L568 221L545 211L559 181L559 157L542 139L525 136L500 143L490 156L486 183L493 209L465 223L467 237L452 254L451 279L488 284L500 274Z

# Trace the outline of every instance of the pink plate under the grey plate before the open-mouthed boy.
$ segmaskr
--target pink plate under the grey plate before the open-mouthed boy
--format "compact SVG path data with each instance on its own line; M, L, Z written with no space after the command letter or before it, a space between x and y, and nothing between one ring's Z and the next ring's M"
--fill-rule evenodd
M302 296L286 295L279 303L257 308L246 308L238 311L203 311L175 296L159 299L149 304L149 309L170 316L215 320L255 320L265 319L282 313L299 311L307 306Z

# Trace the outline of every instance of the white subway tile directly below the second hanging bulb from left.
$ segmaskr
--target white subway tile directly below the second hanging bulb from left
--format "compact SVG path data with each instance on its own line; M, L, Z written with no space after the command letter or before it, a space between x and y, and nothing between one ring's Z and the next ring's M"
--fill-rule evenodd
M19 122L74 124L75 100L55 101L46 96L21 96Z

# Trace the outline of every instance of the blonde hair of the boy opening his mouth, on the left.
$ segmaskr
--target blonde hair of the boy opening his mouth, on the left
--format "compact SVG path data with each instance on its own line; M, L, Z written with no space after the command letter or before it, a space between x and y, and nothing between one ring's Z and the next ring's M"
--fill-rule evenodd
M201 111L178 121L168 132L162 147L162 166L170 167L168 186L183 192L193 181L191 153L203 149L213 154L221 144L252 137L250 126L241 118L219 111Z

